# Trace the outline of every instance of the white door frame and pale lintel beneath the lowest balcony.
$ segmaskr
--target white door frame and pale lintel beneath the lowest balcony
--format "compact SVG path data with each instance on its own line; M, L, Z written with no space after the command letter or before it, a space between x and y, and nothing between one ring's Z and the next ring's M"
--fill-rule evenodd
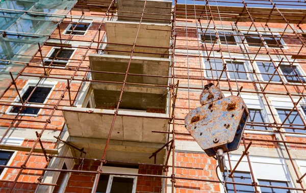
M138 174L138 169L133 169L133 168L117 168L117 167L108 167L108 166L104 166L103 167L103 172L106 173L129 173L129 174ZM97 175L96 175L97 177ZM137 186L137 176L124 176L124 175L115 175L112 174L109 177L109 181L108 181L108 185L107 185L107 190L106 193L110 193L111 192L111 187L112 187L112 182L114 177L121 177L121 178L133 178L133 190L132 193L136 193L136 186ZM97 183L99 183L99 181L97 181ZM95 186L95 184L94 184ZM91 193L94 193L93 190Z

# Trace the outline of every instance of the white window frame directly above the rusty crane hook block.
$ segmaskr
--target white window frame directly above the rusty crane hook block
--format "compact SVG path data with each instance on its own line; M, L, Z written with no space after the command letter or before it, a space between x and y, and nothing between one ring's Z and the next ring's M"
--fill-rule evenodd
M206 56L206 54L204 53L203 54L204 56ZM215 54L215 56L214 57L221 57L221 55L216 55ZM225 57L227 57L227 56L225 56ZM229 56L228 56L229 57ZM232 57L232 56L231 56ZM250 74L248 73L249 72L249 68L248 68L248 63L246 62L246 61L244 61L244 58L243 57L232 57L232 58L235 58L236 60L235 61L233 61L233 63L235 63L235 62L242 62L243 63L243 66L244 66L244 69L245 69L245 72L246 72L246 77L247 77L247 79L240 79L240 78L236 78L237 80L242 80L242 81L252 81L252 76L250 76ZM210 59L210 60L212 60L212 59ZM221 60L222 61L222 59L216 59L216 60ZM227 65L232 65L232 63L231 63L231 60L230 59L224 59L225 60L225 62L226 62L226 68L228 69L228 67L227 67ZM212 60L213 62L215 62L214 60ZM229 62L228 62L229 61ZM203 69L206 69L206 62L207 62L207 59L206 58L202 58L202 63L203 63ZM228 62L228 63L227 63ZM213 69L213 70L216 70L216 69ZM204 77L206 77L206 78L213 78L212 76L210 77L210 76L207 76L207 72L206 72L207 70L204 70L204 72L205 72L205 74L204 74ZM220 72L220 71L219 71ZM218 76L220 76L220 74L221 74L221 72L220 72L220 74L219 74L219 72L218 72ZM225 71L223 72L223 73L225 73ZM238 72L236 72L236 73L238 73ZM228 72L227 71L227 76L231 79L231 80L236 80L235 79L235 77L231 77L230 76L230 72ZM214 77L215 78L215 77ZM216 77L216 78L219 78L219 77ZM222 78L221 77L221 79L223 79L223 80L225 80L226 78Z

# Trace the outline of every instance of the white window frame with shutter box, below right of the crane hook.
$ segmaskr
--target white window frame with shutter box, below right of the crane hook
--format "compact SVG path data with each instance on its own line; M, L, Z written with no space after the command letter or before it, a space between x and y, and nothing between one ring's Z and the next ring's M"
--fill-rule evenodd
M231 157L231 163L233 163L233 162L237 162L240 159L241 155L230 154L230 157ZM284 178L286 178L287 181L284 181L284 180L278 180L278 181L288 182L289 187L295 187L294 181L293 181L293 179L292 179L292 177L290 175L290 172L289 172L289 169L287 167L287 163L286 163L285 159L278 158L278 157L277 158L276 157L272 158L272 157L261 157L261 156L249 156L249 158L250 158L250 163L251 163L252 169L256 168L255 164L258 164L258 163L259 164L281 165L282 168L283 168L284 173L286 174L286 176ZM228 162L227 156L225 156L225 162L226 162L226 165L228 166L228 164L227 164L227 162ZM238 167L236 169L237 172L249 172L250 173L249 166L248 166L248 160L247 160L247 158L245 156L242 158L241 162L239 163L239 166L240 166L240 164L245 164L246 167L245 168ZM232 164L232 167L234 168L235 166L233 166L233 164ZM260 170L254 170L254 171L256 171L256 172L253 172L253 175L254 175L254 178L256 179L255 181L258 184L259 184L259 180L275 181L275 178L271 174L270 174L271 177L266 175L266 177L270 178L270 179L261 179L260 176L257 176L258 175L257 172L260 171ZM218 175L222 176L222 178L223 178L223 174L220 172L220 170L218 170ZM220 184L220 190L221 190L221 192L224 191L224 188L223 188L222 184ZM260 186L258 186L258 190L259 190L260 193L262 192ZM291 193L296 193L295 190L290 190L290 191L291 191Z

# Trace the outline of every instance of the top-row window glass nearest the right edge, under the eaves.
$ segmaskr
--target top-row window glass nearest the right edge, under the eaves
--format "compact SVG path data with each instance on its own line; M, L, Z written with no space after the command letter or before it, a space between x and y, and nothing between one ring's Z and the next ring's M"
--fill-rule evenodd
M247 44L249 46L260 47L262 45L262 41L258 36L258 34L243 34L243 35L245 36L245 40L247 41ZM272 35L265 35L265 34L262 34L261 36L265 40L268 47L282 47L282 48L284 47L281 41L279 41L279 38L276 37L273 38ZM279 43L279 46L277 45L276 41Z

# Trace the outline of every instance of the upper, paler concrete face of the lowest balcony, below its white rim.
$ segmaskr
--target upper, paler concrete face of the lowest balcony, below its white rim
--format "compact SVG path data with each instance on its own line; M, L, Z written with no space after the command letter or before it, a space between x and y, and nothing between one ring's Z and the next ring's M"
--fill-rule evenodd
M114 110L77 107L63 107L63 109L70 136L107 139L114 117ZM71 112L71 110L80 112ZM92 113L88 113L89 111L92 111ZM166 114L119 110L111 139L163 144L166 141L166 135L152 133L151 131L166 131L167 117L168 115Z

